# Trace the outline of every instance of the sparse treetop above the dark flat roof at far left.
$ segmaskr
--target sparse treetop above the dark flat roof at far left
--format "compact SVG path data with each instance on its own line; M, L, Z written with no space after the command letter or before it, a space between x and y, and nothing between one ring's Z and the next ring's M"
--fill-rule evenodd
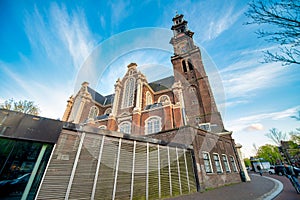
M6 100L0 108L22 112L25 114L39 115L40 109L33 101L14 101L13 99Z

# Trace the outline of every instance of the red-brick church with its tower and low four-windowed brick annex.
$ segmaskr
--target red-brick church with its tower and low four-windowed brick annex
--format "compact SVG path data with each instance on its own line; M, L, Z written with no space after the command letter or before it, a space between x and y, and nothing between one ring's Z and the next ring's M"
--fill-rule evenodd
M183 15L176 15L173 22L174 76L148 83L137 64L130 63L112 95L103 96L83 83L68 101L64 120L192 145L201 189L239 182L235 143L218 112L194 33ZM93 106L98 114L89 118Z

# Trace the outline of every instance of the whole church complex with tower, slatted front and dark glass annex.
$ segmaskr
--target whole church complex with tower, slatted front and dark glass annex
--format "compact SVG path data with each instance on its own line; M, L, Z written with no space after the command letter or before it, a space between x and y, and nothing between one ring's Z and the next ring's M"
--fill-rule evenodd
M82 83L63 120L0 109L0 197L161 199L244 181L201 51L173 18L174 75L148 82L136 63L104 96ZM126 66L124 66L126 67Z

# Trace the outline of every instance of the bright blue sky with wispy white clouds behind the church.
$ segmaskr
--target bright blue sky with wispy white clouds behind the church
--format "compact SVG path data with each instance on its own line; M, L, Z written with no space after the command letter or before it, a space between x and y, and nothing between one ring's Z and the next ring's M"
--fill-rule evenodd
M300 70L260 63L261 51L277 46L257 38L254 32L262 27L243 25L247 3L1 0L0 103L32 100L42 116L57 119L83 80L110 94L130 62L139 65L148 81L171 75L172 47L167 42L178 11L203 49L225 127L249 156L253 143L272 144L265 136L270 128L288 132L299 127L290 116L300 110ZM157 30L166 33L155 36L161 47L135 48L143 40L152 41L147 34ZM122 54L103 60L110 48ZM94 52L102 57L88 67Z

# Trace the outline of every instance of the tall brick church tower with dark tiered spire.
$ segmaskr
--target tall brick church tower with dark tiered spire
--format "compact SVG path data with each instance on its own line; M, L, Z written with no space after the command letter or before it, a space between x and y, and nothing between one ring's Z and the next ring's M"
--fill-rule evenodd
M175 82L180 81L183 87L185 123L207 131L223 132L223 122L203 66L201 51L194 44L194 32L188 29L188 22L182 14L176 14L172 20L173 37L170 43L174 55L171 62Z

